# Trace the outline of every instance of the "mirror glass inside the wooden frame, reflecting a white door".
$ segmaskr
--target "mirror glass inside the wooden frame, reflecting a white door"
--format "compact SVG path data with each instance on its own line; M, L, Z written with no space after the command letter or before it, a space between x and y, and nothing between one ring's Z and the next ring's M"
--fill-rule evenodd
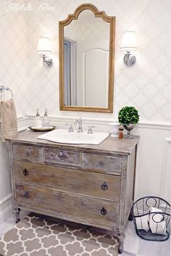
M65 106L107 107L108 81L109 23L85 10L64 27Z

